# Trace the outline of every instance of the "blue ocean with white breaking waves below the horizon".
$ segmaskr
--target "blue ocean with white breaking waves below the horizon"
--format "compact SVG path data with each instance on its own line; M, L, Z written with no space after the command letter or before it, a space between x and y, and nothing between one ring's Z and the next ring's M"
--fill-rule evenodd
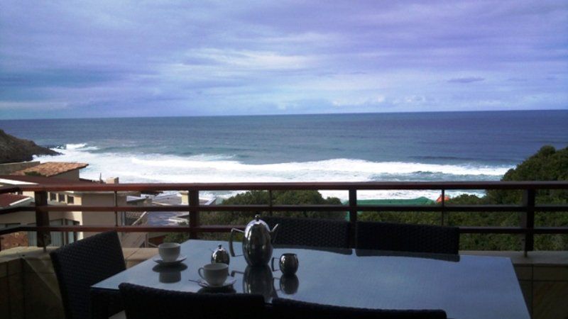
M85 162L82 177L121 182L492 181L542 145L568 146L568 111L46 119L0 128L63 153L41 161ZM359 194L418 196L439 193Z

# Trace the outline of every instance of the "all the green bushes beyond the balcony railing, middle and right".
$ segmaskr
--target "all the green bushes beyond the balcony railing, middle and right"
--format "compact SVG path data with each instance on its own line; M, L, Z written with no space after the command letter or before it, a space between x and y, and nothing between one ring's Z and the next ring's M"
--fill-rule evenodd
M568 147L555 150L552 146L542 147L535 155L510 169L502 181L566 181L568 180ZM486 196L461 195L451 198L447 205L488 205L488 204L520 204L523 201L522 191L488 190ZM539 203L568 203L568 191L542 190L536 194ZM247 191L231 198L227 198L223 205L268 205L268 191ZM318 191L273 191L273 205L300 205L300 204L331 204L339 205L339 198L323 198ZM424 204L424 203L422 203ZM432 203L432 205L436 205ZM246 225L256 213L241 211L201 213L202 225ZM262 215L268 212L261 212ZM444 216L444 225L455 226L518 226L521 223L521 213L516 212L486 212L447 213ZM273 216L292 216L310 218L342 219L344 211L318 212L273 212ZM359 213L359 220L388 221L395 223L417 223L440 225L442 216L437 212L392 212L371 211ZM186 224L187 225L187 224ZM535 213L535 226L567 226L568 212L537 212ZM228 234L203 234L209 239L224 239ZM183 233L170 234L168 241L182 242L187 240ZM460 237L461 250L521 250L520 235L501 234L464 234ZM535 250L568 250L567 235L535 235Z

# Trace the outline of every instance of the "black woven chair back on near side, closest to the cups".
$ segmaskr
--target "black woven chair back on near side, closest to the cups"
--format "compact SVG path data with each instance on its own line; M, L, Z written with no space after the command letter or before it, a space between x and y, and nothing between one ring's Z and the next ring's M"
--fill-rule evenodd
M120 284L128 319L263 318L264 298L245 293L191 293Z

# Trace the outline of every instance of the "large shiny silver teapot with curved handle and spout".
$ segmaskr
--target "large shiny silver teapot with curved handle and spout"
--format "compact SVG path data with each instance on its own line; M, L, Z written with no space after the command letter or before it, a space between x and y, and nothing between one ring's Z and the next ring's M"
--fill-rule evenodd
M272 257L272 242L276 237L278 225L271 230L268 224L261 220L261 216L254 216L244 231L236 228L231 229L231 237L229 237L229 251L231 256L235 257L233 249L234 233L244 233L243 236L243 254L246 263L250 266L263 266L268 264Z

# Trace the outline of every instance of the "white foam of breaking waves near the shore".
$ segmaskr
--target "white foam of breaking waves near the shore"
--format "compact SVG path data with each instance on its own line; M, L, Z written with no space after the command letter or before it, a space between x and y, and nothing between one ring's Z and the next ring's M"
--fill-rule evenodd
M510 167L480 165L424 164L415 162L369 162L361 159L328 159L316 162L246 164L226 155L175 156L89 152L97 147L85 143L68 144L62 155L40 160L89 163L82 177L98 179L120 177L121 182L213 183L244 181L398 181L422 180L427 175L437 180L499 179ZM439 177L439 178L436 178ZM324 196L346 198L346 192L322 191ZM456 192L458 194L458 192ZM452 194L450 194L452 195ZM361 191L359 198L437 198L439 191Z

